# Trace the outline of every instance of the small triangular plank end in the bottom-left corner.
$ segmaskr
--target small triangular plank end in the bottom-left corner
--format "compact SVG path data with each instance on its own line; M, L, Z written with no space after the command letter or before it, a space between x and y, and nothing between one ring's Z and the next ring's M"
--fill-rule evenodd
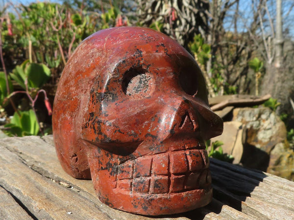
M5 220L31 220L27 212L15 201L15 199L2 187L0 187L0 219Z

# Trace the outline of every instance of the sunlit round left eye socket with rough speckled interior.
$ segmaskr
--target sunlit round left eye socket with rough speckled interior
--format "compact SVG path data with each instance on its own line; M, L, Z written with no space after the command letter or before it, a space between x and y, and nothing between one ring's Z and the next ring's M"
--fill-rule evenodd
M123 93L134 99L149 97L154 91L153 75L143 67L132 67L123 75Z

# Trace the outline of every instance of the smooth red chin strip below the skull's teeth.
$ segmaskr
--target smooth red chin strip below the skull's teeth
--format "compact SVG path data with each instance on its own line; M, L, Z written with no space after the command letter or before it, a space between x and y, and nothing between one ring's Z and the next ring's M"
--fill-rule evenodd
M212 199L211 185L204 189L182 193L141 194L127 191L96 189L99 199L108 206L122 211L158 216L194 210L207 205Z

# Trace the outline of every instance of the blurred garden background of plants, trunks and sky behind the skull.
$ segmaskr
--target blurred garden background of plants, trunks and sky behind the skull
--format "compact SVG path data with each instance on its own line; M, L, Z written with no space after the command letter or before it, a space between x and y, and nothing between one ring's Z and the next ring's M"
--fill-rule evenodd
M3 1L0 123L9 125L3 131L17 136L50 133L51 104L73 50L92 33L114 26L144 26L169 35L196 58L210 97L270 93L279 102L276 112L289 124L294 109L289 101L294 99L291 29L294 2L247 3L246 0L60 0L26 4ZM22 121L30 121L31 128L24 128ZM291 129L293 125L289 125L289 131L293 132Z

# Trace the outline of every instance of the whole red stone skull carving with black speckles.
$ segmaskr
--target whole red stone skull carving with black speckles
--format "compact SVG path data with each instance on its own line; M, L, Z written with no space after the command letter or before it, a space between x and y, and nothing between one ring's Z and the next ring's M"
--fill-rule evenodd
M92 178L102 202L132 213L173 214L208 204L204 141L221 132L194 58L147 28L110 28L84 40L54 100L63 169Z

